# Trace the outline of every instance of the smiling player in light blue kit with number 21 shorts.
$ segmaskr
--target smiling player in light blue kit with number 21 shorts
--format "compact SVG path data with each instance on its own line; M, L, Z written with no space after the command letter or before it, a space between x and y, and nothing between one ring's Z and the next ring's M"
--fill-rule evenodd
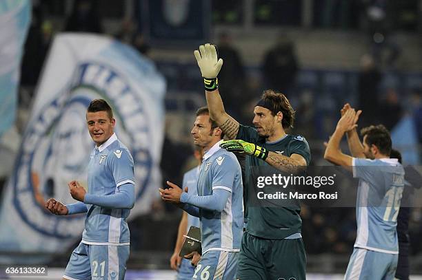
M69 182L74 204L50 198L46 208L55 215L87 213L82 241L74 249L63 279L124 279L130 234L126 219L134 206L134 162L114 133L112 109L105 100L90 103L86 122L96 146L88 164L88 193Z

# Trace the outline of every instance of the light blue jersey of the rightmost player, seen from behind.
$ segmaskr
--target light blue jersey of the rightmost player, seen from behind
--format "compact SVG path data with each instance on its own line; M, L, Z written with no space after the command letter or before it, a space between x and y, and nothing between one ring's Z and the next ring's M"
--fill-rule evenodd
M396 224L404 187L404 169L396 159L353 159L359 178L354 247L398 254Z

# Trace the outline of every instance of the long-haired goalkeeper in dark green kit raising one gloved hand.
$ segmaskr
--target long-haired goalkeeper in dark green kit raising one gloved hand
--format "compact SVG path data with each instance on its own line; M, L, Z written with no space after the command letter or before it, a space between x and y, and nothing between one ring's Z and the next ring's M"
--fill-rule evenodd
M254 127L240 125L223 106L217 75L223 60L214 45L194 51L203 76L210 118L230 140L221 143L228 151L245 153L245 170L273 166L281 171L303 169L310 162L308 142L302 136L285 133L293 126L294 110L281 93L265 90L254 107ZM230 81L225 81L230 83ZM246 231L241 244L237 279L305 279L305 248L301 238L300 206L259 207L250 199L256 175L245 174L244 201Z

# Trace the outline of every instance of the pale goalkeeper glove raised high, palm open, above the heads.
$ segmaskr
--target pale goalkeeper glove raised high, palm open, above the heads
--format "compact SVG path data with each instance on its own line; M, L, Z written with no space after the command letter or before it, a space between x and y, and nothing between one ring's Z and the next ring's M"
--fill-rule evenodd
M194 51L197 58L199 69L203 76L203 85L205 90L213 91L219 87L217 75L223 65L223 59L217 57L217 49L214 45L200 45L199 50Z

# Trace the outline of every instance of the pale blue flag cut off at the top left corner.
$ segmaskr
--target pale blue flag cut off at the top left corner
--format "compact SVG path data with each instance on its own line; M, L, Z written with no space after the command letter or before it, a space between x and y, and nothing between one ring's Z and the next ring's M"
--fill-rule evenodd
M16 116L23 43L30 17L29 0L0 1L0 136Z

